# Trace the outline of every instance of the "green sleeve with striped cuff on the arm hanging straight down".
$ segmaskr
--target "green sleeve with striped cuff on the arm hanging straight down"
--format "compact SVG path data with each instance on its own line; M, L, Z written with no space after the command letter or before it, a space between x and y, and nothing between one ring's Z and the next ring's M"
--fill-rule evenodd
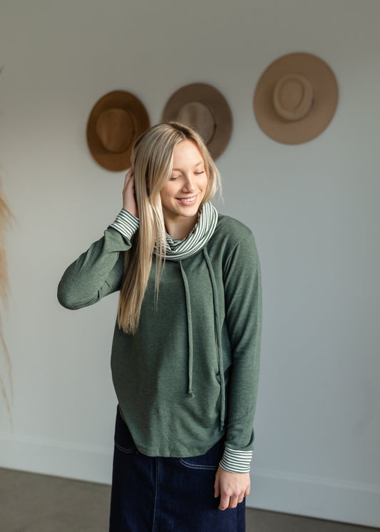
M226 451L221 465L233 470L228 468L228 463L235 462L236 471L244 471L246 457L249 462L249 451L253 447L262 324L260 262L253 235L245 237L235 247L225 264L225 308L232 346L232 369ZM244 452L239 457L235 451ZM239 469L240 458L242 467Z

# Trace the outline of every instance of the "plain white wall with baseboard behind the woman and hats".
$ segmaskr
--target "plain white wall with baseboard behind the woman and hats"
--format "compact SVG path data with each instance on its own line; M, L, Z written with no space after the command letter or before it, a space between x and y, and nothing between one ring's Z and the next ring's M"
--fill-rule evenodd
M0 464L109 482L117 296L69 312L56 285L120 208L123 173L91 158L104 93L138 95L152 123L186 83L211 83L235 128L218 160L224 213L254 230L264 286L251 506L380 526L379 16L376 0L3 0L0 160L7 233L13 425ZM278 56L332 66L339 106L309 143L255 122ZM0 357L4 374L4 357Z

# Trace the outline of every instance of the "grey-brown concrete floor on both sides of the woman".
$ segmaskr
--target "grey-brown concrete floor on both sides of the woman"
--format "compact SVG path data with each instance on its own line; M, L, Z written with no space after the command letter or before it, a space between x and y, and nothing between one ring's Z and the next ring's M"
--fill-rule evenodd
M104 484L0 469L0 531L107 532L110 496ZM253 508L246 516L247 532L379 530Z

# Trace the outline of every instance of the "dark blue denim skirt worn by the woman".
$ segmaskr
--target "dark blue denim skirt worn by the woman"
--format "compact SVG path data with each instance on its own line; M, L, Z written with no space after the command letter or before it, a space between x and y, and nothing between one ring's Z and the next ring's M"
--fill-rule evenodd
M245 499L220 511L214 497L223 450L221 439L202 456L145 456L118 411L110 532L244 532Z

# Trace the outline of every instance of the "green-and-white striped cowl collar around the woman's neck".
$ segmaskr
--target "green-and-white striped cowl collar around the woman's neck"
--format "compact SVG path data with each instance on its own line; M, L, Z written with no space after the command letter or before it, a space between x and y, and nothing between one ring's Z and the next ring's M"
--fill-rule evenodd
M190 234L183 240L166 235L166 260L185 260L204 247L214 234L217 226L217 210L207 202L202 205L199 220Z

